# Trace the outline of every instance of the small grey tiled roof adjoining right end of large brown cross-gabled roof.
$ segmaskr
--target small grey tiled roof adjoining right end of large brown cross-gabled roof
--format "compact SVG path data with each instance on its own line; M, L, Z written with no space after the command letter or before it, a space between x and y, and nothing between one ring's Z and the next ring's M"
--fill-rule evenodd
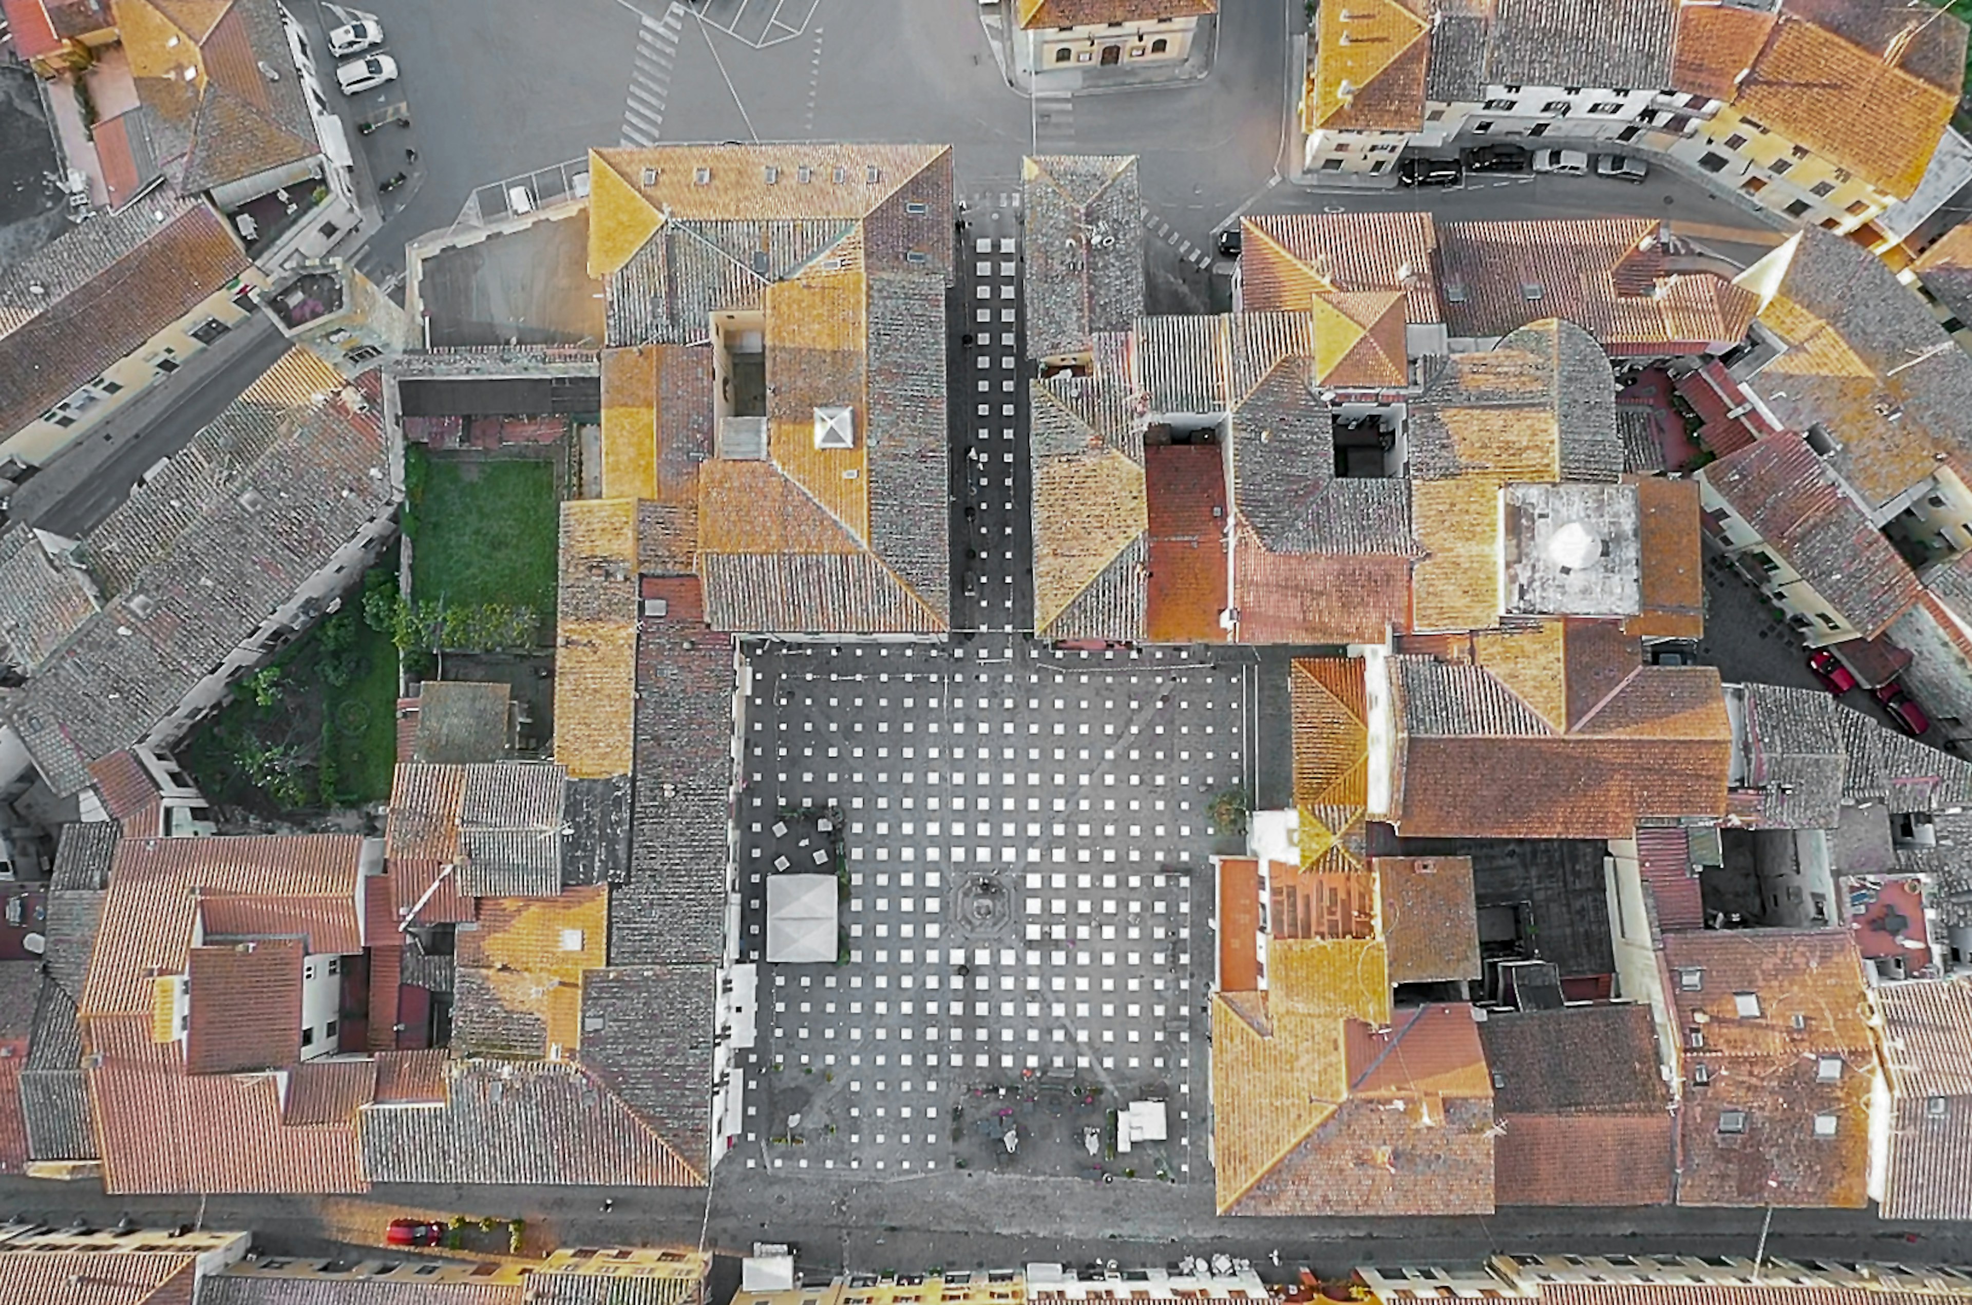
M1761 790L1759 822L1832 830L1842 818L1848 747L1826 692L1745 684L1745 787Z

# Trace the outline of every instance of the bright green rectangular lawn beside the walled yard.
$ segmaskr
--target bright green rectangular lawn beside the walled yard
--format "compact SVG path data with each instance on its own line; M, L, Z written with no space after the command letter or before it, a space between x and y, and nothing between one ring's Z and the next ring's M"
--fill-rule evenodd
M554 463L434 457L422 444L404 455L412 599L527 605L540 613L542 631L554 629Z

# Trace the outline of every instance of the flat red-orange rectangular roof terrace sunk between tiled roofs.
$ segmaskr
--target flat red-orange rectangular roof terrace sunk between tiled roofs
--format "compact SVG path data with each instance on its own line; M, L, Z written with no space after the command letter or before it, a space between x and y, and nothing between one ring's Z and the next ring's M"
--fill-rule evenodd
M1152 643L1223 643L1227 605L1225 463L1213 446L1144 449Z

